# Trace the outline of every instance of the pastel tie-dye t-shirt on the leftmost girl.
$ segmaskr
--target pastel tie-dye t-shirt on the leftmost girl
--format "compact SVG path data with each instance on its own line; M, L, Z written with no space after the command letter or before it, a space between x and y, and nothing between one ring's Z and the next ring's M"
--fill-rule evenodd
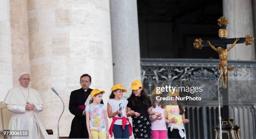
M85 111L90 114L90 130L106 131L106 123L104 119L104 112L107 107L104 104L97 106L90 104L85 107Z

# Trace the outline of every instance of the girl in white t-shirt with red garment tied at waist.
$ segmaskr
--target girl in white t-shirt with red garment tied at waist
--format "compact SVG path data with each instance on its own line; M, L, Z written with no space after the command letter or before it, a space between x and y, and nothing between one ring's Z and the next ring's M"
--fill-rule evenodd
M123 89L122 84L115 84L111 88L111 91L107 109L108 117L113 118L113 121L109 128L109 134L113 137L114 133L115 139L129 139L132 134L132 127L126 116L128 100L121 99L123 92L127 92L127 90ZM131 114L134 112L130 111L128 113Z

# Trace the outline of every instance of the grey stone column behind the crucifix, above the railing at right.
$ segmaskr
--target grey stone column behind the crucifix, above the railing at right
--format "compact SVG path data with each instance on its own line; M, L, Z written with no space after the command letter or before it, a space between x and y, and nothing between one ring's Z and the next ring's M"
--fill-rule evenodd
M251 0L223 0L223 15L228 18L228 38L253 34ZM230 46L230 45L228 45ZM254 43L246 46L237 44L228 52L229 60L255 60Z

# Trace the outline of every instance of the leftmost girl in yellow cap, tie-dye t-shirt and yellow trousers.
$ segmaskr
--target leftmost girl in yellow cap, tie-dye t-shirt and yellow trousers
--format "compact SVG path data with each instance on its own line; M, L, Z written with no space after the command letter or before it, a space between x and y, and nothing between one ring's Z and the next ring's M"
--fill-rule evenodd
M90 104L85 107L86 125L90 139L108 139L107 107L100 104L105 91L92 90ZM90 127L90 128L88 128Z

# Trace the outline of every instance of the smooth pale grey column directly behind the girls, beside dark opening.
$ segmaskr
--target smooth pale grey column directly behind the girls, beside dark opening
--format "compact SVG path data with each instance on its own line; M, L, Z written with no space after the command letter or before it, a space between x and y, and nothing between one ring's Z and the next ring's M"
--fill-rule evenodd
M110 0L114 84L131 94L131 82L141 80L138 13L136 0Z

